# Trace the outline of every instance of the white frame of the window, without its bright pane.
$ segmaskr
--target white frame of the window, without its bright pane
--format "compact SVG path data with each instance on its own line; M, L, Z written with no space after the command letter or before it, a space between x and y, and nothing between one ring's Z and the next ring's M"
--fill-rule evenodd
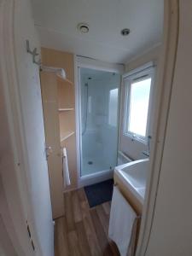
M146 136L143 137L137 133L128 131L129 120L130 120L130 103L131 103L131 84L137 80L137 82L142 81L143 79L151 78L149 100L148 100L148 118L146 125ZM149 62L143 67L133 70L131 73L127 73L124 76L124 86L125 86L125 111L124 111L124 127L123 134L125 137L130 137L132 141L138 141L144 144L148 143L149 136L149 124L151 117L151 105L152 105L152 94L154 89L154 64Z

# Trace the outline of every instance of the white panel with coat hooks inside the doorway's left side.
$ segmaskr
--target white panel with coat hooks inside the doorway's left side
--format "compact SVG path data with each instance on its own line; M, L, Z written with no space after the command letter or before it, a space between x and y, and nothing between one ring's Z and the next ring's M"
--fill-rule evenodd
M30 1L15 2L15 58L18 72L20 113L23 142L26 149L26 184L30 206L28 218L40 248L40 255L54 255L54 226L49 193L49 175L44 152L44 118L39 67L26 52L26 39L31 49L40 47L32 20Z

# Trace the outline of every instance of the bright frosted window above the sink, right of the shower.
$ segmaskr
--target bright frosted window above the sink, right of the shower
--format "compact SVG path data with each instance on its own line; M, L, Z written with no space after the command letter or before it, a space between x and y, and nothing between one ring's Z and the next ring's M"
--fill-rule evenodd
M153 69L137 72L125 79L125 135L146 142L148 109Z

